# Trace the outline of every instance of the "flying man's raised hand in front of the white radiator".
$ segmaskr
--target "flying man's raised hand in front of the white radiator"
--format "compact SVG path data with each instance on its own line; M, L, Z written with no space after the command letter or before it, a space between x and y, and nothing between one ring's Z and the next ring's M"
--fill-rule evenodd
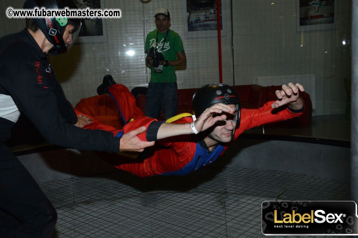
M300 98L299 91L304 91L304 88L301 84L289 83L288 85L282 85L282 90L276 90L275 94L277 100L272 103L272 108L278 108L279 106L286 105L294 110L300 110L303 108L304 103L302 98Z

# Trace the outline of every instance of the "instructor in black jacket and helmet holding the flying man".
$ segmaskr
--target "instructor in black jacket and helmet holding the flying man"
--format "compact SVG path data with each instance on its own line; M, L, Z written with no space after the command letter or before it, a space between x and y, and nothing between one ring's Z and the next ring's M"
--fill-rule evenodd
M26 0L24 8L76 8L71 0ZM50 237L57 220L52 204L29 172L3 142L20 112L44 138L80 150L141 152L154 142L136 137L145 127L113 137L104 130L82 129L92 123L76 116L48 60L67 52L81 29L81 19L26 19L26 29L0 39L0 236Z

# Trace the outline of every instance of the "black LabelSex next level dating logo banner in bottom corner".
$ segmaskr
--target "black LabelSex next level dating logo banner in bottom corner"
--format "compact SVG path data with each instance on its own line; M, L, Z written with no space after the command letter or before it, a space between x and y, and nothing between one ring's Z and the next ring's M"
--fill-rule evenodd
M265 235L358 234L357 205L353 201L265 201Z

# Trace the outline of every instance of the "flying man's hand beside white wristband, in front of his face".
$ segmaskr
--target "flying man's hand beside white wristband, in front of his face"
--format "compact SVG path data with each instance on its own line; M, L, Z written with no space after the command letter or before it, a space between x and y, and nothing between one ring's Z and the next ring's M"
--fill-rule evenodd
M225 114L214 116L215 114L221 114L223 112L233 113L235 110L236 108L223 103L214 104L210 108L205 109L205 111L194 122L195 128L198 132L202 132L212 127L216 122L226 119Z

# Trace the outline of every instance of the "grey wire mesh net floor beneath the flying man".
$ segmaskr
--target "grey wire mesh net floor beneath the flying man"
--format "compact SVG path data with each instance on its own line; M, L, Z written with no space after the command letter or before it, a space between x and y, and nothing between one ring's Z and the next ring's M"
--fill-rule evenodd
M349 200L349 184L337 180L240 168L151 178L118 171L40 187L58 213L52 238L266 237L265 200Z

